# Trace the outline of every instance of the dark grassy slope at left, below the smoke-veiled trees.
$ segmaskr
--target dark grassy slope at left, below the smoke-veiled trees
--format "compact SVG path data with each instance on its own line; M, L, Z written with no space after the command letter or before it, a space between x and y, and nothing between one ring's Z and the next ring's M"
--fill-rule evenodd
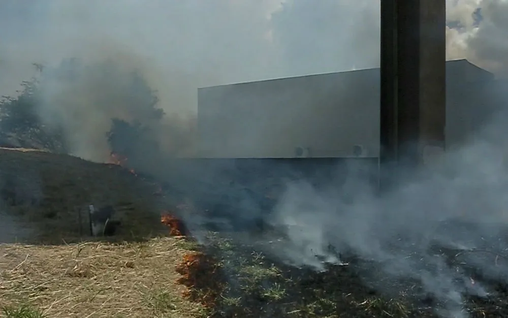
M42 151L0 148L0 186L16 193L16 202L6 194L2 210L22 221L36 243L59 244L78 238L80 232L86 235L90 203L116 208L124 238L160 230L160 211L168 207L153 195L156 185L118 166Z

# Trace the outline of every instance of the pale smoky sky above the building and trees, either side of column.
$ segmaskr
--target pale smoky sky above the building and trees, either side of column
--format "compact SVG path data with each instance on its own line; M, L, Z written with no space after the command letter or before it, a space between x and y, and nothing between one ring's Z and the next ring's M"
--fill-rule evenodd
M447 5L448 58L466 57L506 72L506 1ZM32 62L112 58L125 72L141 70L168 114L189 118L195 116L200 86L378 65L379 2L372 0L2 0L0 7L2 94L13 94L33 75ZM62 114L72 112L55 102L59 93L48 92L47 104ZM93 160L103 160L104 153L86 149L105 147L109 122L100 118L111 114L100 109L86 112L89 120L84 114L79 118L94 122L93 129L77 124L75 116L61 116L80 136L73 139L83 143L78 154ZM188 148L183 155L192 154Z

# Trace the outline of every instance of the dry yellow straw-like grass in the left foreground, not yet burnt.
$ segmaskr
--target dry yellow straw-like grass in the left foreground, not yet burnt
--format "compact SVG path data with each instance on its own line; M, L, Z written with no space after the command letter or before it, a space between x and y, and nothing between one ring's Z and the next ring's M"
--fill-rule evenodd
M0 245L0 303L30 304L48 317L167 317L202 314L175 284L178 239L139 243Z

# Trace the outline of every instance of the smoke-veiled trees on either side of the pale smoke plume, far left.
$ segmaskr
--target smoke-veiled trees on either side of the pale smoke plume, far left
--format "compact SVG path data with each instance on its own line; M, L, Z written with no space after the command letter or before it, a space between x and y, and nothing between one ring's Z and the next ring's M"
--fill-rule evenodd
M136 160L136 156L148 147L158 146L149 129L150 125L160 123L164 111L157 107L158 98L143 76L135 72L123 72L114 61L106 60L92 65L84 65L77 59L63 60L56 67L44 67L34 63L38 75L21 83L22 89L15 97L4 96L0 100L0 139L16 140L16 144L25 148L46 149L51 152L69 153L69 132L61 113L75 111L68 100L54 101L45 96L47 90L55 85L65 85L68 90L74 86L86 86L88 78L99 78L103 85L121 82L121 85L105 87L99 97L91 98L97 107L107 109L113 115L111 129L106 134L111 151ZM49 88L48 88L49 87ZM77 99L80 97L77 96ZM51 113L52 107L44 103L62 103L57 105L60 113ZM72 101L69 101L72 104ZM85 107L85 106L82 106ZM90 110L93 112L93 109ZM43 116L51 117L50 120ZM126 115L130 120L114 117ZM48 122L49 121L49 122Z

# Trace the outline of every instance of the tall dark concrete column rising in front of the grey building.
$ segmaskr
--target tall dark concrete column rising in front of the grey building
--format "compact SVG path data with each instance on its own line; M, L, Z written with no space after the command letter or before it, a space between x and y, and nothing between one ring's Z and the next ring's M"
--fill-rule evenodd
M382 183L444 150L445 28L445 0L381 0Z

